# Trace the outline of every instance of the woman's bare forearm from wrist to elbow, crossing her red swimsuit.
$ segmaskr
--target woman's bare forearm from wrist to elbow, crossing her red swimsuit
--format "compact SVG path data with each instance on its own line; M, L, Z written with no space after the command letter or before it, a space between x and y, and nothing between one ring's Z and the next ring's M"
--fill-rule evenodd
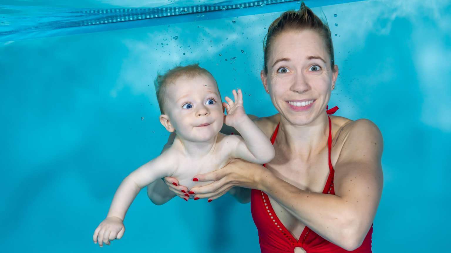
M348 250L358 244L353 229L353 224L359 222L358 217L341 197L301 190L268 170L259 175L258 182L258 190L271 196L323 238Z

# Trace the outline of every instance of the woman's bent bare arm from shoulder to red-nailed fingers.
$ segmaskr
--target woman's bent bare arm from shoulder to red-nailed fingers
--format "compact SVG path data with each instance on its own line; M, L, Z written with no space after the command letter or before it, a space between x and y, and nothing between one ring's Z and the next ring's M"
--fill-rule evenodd
M351 130L335 165L336 195L300 190L261 165L246 162L196 176L216 182L191 190L195 197L209 199L236 185L262 190L325 239L354 250L368 233L381 198L383 144L380 131L368 120L353 122Z

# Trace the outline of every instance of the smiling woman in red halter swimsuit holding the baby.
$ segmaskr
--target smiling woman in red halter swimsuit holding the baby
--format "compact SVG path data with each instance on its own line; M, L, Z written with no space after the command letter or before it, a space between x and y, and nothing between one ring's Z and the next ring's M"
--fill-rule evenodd
M202 187L166 184L180 197L212 201L230 190L251 201L264 253L371 252L382 135L369 120L327 115L337 109L326 111L338 75L329 28L303 3L272 23L264 52L261 79L279 113L255 122L276 157L265 167L236 160L198 175L214 181Z

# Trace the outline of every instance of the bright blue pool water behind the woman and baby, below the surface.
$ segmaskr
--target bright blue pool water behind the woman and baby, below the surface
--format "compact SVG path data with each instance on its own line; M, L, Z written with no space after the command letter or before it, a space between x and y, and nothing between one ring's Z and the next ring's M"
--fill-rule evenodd
M340 67L329 105L372 120L384 137L373 252L446 251L451 4L370 0L322 11ZM250 205L228 194L155 206L143 190L123 239L99 248L92 233L122 179L166 142L157 71L199 62L223 96L243 89L248 113L276 113L259 72L278 15L1 42L1 252L258 252Z

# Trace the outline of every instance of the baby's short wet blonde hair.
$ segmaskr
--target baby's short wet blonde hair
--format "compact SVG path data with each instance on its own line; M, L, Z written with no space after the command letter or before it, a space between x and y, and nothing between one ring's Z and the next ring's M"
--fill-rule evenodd
M196 77L201 75L206 75L213 78L212 73L208 72L208 70L206 70L205 68L199 67L199 63L194 63L187 66L177 66L170 69L164 75L157 73L154 84L156 91L156 100L158 101L158 105L160 106L161 114L164 114L164 99L166 97L166 88L169 83L175 82L179 77ZM213 80L215 79L213 78Z

